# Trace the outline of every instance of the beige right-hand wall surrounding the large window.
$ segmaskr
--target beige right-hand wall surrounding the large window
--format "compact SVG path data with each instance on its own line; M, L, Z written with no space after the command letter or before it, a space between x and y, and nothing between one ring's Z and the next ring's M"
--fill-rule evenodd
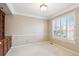
M57 39L53 38L53 36L51 34L52 33L51 21L53 19L49 20L49 34L50 34L49 39L53 43L56 43L56 44L61 45L65 48L71 49L73 51L79 52L79 38L78 38L79 37L79 8L76 8L74 10L76 11L76 21L77 21L77 23L76 23L76 25L77 25L77 27L76 27L76 31L77 31L76 32L76 38L77 39L74 41L75 43L69 43L67 41L57 40Z

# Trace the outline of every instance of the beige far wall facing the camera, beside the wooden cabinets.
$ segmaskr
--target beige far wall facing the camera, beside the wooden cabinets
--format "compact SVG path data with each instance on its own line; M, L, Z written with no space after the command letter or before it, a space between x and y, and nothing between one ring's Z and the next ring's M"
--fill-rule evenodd
M43 41L47 38L45 20L20 15L6 15L5 19L5 33L12 36L13 46Z

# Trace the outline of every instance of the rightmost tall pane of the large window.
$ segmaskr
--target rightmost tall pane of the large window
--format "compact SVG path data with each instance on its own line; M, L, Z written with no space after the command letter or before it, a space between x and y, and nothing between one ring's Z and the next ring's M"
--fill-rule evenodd
M75 39L75 15L67 16L67 39L74 40Z

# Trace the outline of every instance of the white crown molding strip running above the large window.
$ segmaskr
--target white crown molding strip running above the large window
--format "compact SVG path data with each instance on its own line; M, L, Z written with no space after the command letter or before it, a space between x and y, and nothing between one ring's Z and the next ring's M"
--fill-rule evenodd
M61 10L60 12L57 12L55 13L54 15L50 16L49 19L51 20L52 18L58 16L58 15L61 15L65 12L68 12L68 11L71 11L71 10L74 10L75 8L79 7L79 4L76 4L76 5L73 5L73 6L70 6L69 8L66 8L64 9L63 11Z

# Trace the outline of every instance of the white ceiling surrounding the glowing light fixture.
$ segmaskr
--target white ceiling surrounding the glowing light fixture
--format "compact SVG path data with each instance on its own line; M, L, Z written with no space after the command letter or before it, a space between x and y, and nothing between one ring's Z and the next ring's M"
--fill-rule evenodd
M47 10L41 11L41 4L42 3L7 3L7 6L12 14L47 19L70 7L79 5L77 3L46 3L48 6Z

